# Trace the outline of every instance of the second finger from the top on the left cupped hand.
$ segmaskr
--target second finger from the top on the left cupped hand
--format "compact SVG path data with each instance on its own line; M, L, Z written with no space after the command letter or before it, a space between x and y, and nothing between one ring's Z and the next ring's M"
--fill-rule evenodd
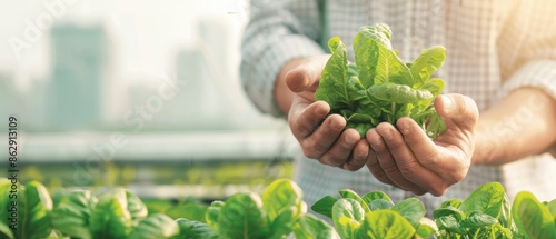
M312 135L300 141L305 156L311 159L320 159L340 137L344 127L346 127L344 117L338 114L329 116Z

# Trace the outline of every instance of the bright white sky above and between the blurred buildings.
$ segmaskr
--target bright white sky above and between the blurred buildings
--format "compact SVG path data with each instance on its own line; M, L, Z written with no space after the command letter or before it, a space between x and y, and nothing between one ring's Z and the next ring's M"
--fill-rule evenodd
M48 77L49 30L20 58L10 38L26 40L26 22L49 14L44 3L62 0L0 0L0 73L11 74L24 89L32 80ZM244 0L72 0L57 21L103 22L112 41L112 67L119 80L162 76L171 70L176 51L197 40L196 22L201 17L227 18L234 31L245 20ZM229 14L228 12L239 12ZM229 19L228 19L229 18ZM239 34L238 34L239 36Z

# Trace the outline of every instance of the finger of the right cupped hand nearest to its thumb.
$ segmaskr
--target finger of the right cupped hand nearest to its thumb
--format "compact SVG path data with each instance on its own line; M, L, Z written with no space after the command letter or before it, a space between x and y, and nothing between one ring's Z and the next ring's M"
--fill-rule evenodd
M457 161L447 161L449 159L458 160L461 157L451 156L454 152L444 147L436 146L425 131L411 119L401 118L397 122L398 129L404 136L406 145L416 156L418 163L431 170L447 180L447 185L454 185L465 178L467 170L465 163ZM450 147L450 146L446 146ZM441 155L446 158L441 159Z

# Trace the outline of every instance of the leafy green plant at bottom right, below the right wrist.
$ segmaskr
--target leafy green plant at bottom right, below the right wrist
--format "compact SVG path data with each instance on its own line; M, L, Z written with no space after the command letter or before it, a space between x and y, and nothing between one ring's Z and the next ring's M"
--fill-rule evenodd
M434 212L437 238L520 238L499 182L485 183L464 201L447 200Z

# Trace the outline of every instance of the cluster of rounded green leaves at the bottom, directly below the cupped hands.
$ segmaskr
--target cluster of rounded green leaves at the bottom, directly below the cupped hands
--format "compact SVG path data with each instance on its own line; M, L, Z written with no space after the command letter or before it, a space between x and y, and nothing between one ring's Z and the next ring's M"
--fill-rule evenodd
M331 218L344 239L428 238L436 231L434 222L425 218L425 207L417 198L395 205L381 191L359 197L350 189L342 189L339 196L339 199L326 196L311 209Z

